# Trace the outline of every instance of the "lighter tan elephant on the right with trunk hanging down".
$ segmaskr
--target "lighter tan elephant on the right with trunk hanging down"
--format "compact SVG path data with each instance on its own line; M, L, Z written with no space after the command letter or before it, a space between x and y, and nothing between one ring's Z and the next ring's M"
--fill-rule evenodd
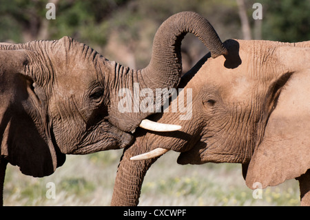
M228 54L206 54L182 77L183 99L149 117L180 130L136 130L118 166L112 206L137 206L147 170L168 150L180 152L182 165L241 163L253 190L295 178L300 205L310 206L310 41L227 39L224 46ZM184 113L172 107L185 98L192 116L181 120Z

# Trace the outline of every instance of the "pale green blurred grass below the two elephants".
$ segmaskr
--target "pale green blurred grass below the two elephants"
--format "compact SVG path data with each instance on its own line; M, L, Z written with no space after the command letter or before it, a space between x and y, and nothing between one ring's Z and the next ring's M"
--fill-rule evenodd
M110 206L121 150L68 155L49 177L28 177L8 166L5 206ZM245 185L240 164L206 163L180 166L168 152L149 169L139 206L299 206L298 181L289 180L262 190L254 199ZM48 199L54 183L55 199Z

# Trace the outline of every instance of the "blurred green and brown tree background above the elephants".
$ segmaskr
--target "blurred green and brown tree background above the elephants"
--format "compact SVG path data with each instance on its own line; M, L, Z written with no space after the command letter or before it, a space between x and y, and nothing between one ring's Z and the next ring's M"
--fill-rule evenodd
M55 20L45 18L48 2L56 4ZM243 9L254 39L310 39L309 0L261 0L263 17L259 21L252 18L255 2L244 1ZM223 41L244 38L237 1L231 0L0 0L0 41L23 43L67 35L92 46L107 59L143 68L149 63L157 28L184 10L206 17ZM207 50L187 34L183 52L190 67Z

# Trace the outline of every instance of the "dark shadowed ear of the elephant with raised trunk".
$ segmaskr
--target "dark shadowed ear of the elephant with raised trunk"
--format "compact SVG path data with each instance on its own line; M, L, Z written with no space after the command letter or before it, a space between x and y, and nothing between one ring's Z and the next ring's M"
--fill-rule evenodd
M1 156L19 166L23 174L43 177L61 166L65 155L52 144L45 101L34 87L33 77L25 74L31 54L28 50L0 50Z

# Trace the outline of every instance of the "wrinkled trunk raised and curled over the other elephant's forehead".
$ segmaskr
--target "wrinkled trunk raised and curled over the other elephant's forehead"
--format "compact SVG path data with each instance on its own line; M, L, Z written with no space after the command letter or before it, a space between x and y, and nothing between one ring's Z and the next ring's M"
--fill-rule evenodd
M111 97L112 102L109 110L111 123L121 130L129 132L134 130L150 114L158 112L158 108L163 106L163 103L170 96L169 90L176 88L180 82L182 74L180 46L188 32L196 35L205 43L211 52L211 57L216 58L222 54L228 54L218 34L204 17L195 12L174 14L158 28L154 37L152 58L146 68L130 70L130 68L125 68L118 63L113 67L115 69L114 76L118 77L118 81L121 80L121 83L114 83L114 87L118 90L112 94L113 96L119 95L120 85L123 88L131 88L133 96L137 93L135 91L141 90L147 90L148 95L141 96L140 94L139 96L138 94L138 97L132 97L134 105L132 105L133 108L130 112L120 111L118 105L121 100L120 97ZM123 77L119 77L120 73ZM159 98L157 97L157 89L162 89L163 92ZM152 110L149 110L150 108L145 111L141 110L139 103L143 103L145 97L152 99ZM120 118L123 120L119 120Z

